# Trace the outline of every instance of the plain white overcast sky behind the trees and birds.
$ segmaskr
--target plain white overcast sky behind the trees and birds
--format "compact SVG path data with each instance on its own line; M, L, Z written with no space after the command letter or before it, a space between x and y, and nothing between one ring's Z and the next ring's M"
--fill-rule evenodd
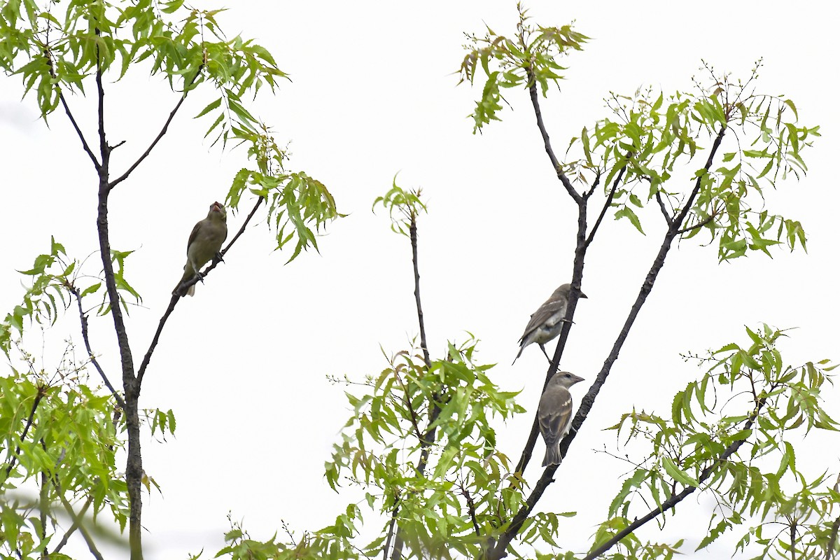
M513 34L512 0L250 0L229 6L219 16L228 35L257 39L292 79L276 97L262 97L256 113L275 126L279 141L291 142L289 168L323 181L348 217L328 227L318 241L320 254L310 251L289 265L291 253L272 252L264 224L249 228L167 323L141 399L144 407L173 409L178 420L168 442L144 440L144 468L163 491L144 502L148 558L186 557L202 548L212 557L223 546L228 511L255 538L269 538L281 520L300 536L331 524L356 499L354 491L335 495L323 479L323 463L350 414L344 388L326 376L376 374L386 367L381 348L396 353L417 334L410 245L390 232L385 213L370 212L396 172L401 186L423 187L428 201L419 253L433 357L444 355L447 340L463 341L472 332L481 341L479 361L499 364L493 379L506 390L522 390L528 414L499 434L501 451L514 460L545 374L538 348L510 366L517 339L528 316L571 276L575 209L545 157L527 93L507 92L512 109L501 114L503 122L473 135L467 116L480 90L455 86L463 33L482 34L487 24ZM613 432L601 430L633 407L667 414L672 395L701 374L680 352L747 344L743 325L769 322L799 327L781 345L788 363L840 359L833 164L840 112L830 64L840 10L833 3L791 8L717 0L532 0L528 8L538 24L576 19L577 29L591 37L583 52L566 60L562 92L543 100L558 151L608 114L608 92L632 94L648 84L666 93L689 89L691 76L701 75L701 59L746 78L764 57L759 91L790 97L801 123L819 124L823 133L803 154L806 179L767 193L770 212L802 222L808 254L779 249L774 259L754 254L717 264L715 247L691 240L669 255L558 482L540 502L546 510L579 512L561 524L560 541L580 552L606 516L620 487L617 477L627 471L626 463L596 453L605 443L615 449ZM21 277L14 270L29 269L35 255L47 252L50 235L78 259L97 250L90 161L63 113L52 115L48 128L33 98L19 101L22 92L17 77L0 80L2 310L20 301ZM176 100L144 71L107 84L109 139L126 140L114 153L115 172L154 138ZM202 141L209 122L192 116L209 100L206 93L191 94L160 146L111 197L112 246L134 250L126 274L144 298L129 319L135 362L181 276L193 224L211 202L224 200L244 165L244 151L223 153ZM94 139L92 103L72 98L71 107ZM243 219L228 213L228 228L235 231ZM588 254L583 290L589 299L578 306L562 364L587 379L573 390L576 400L601 368L659 248L664 224L655 207L643 212L643 225L647 237L627 221L607 219ZM90 274L100 268L97 259L87 262ZM45 345L43 367L55 369L68 332L81 348L72 312L43 337L32 329L24 343L36 355ZM113 322L95 319L91 333L118 381ZM828 396L840 416L837 391ZM812 434L805 445L810 451L802 447L798 465L807 466L807 474L837 472L837 452L826 453L837 449L836 436ZM535 455L542 453L539 442ZM532 464L529 479L537 474ZM711 506L704 498L686 500L664 534L648 524L638 536L684 537L687 557L729 554L728 547L690 554L705 534L698 515ZM379 521L368 517L366 531L377 531Z

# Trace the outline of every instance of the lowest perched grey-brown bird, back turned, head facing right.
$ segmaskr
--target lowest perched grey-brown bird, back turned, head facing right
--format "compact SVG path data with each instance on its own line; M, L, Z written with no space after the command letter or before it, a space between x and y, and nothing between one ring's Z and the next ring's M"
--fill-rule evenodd
M568 371L558 371L549 379L549 386L539 399L539 432L545 440L543 467L559 465L563 460L560 442L572 427L572 394L569 388L578 381L583 381L583 378Z

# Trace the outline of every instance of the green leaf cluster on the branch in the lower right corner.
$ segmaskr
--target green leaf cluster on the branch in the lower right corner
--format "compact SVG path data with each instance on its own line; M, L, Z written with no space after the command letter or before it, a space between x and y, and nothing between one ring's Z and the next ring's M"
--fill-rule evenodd
M593 549L629 525L640 513L639 505L662 510L686 488L711 492L718 504L697 550L750 517L774 525L784 523L785 517L795 518L801 533L809 526L806 520L816 518L811 526L825 536L832 497L817 488L826 476L806 480L796 467L792 440L813 428L837 431L837 423L822 407L824 385L831 383L827 372L834 366L826 360L784 364L776 348L784 332L763 325L756 331L747 328L747 333L748 346L729 343L702 359L709 364L706 374L675 395L669 417L632 411L610 428L619 437L625 434L627 442L644 442L649 451L633 462L632 474L612 500L609 519L596 532ZM785 481L799 488L789 495ZM716 518L721 520L717 524ZM761 526L748 531L738 550L751 535L758 533L760 540ZM619 544L623 552L616 555L638 555L643 549L650 553L649 543L634 535ZM797 546L807 547L801 542Z

